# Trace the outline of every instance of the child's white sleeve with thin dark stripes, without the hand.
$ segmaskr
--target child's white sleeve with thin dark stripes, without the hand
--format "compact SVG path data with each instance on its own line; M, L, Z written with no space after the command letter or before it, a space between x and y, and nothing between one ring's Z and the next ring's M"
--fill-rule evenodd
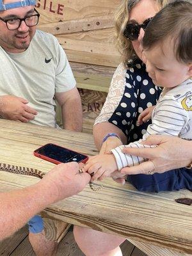
M157 104L152 118L152 124L148 125L147 132L143 135L143 140L146 140L149 135L153 134L178 136L183 127L188 124L188 120L188 113L181 108L180 103L172 96L166 97L166 99L160 100ZM135 166L148 160L143 157L131 156L124 153L126 152L124 148L127 147L157 147L157 145L141 145L140 142L143 140L134 141L129 145L120 146L111 150L116 158L119 171L124 167ZM123 149L124 152L122 152Z

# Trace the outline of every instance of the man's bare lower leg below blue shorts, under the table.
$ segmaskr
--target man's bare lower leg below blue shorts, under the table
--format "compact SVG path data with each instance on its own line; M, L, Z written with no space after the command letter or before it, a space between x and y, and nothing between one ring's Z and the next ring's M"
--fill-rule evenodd
M55 256L58 243L49 241L45 238L44 230L40 233L33 234L29 232L29 241L36 256Z

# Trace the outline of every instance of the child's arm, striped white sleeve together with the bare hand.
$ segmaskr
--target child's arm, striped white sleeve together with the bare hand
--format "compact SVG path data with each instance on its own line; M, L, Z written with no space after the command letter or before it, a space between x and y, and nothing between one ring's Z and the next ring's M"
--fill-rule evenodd
M172 114L172 115L171 115ZM177 122L175 122L177 120ZM184 109L180 107L179 102L173 99L173 97L166 97L166 100L160 101L156 108L156 113L152 118L152 124L148 125L147 132L143 136L145 140L148 135L152 134L169 134L172 136L178 136L182 127L188 123L188 115ZM124 167L131 167L147 161L144 157L131 156L125 154L122 150L126 147L157 147L157 145L142 145L141 141L134 141L129 145L121 145L111 150L113 155L100 154L92 157L88 161L85 170L88 173L94 172L92 180L103 179L109 177L115 170L121 170Z

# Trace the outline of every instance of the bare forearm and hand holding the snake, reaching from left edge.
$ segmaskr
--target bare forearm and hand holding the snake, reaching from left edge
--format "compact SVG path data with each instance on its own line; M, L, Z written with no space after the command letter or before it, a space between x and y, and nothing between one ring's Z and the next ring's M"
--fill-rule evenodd
M90 181L90 175L77 174L78 170L77 163L58 164L37 184L1 193L0 240L24 226L31 217L47 205L83 190Z

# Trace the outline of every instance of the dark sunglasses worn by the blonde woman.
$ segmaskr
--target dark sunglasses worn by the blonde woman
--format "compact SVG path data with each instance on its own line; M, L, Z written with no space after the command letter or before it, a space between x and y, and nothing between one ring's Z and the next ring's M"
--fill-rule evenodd
M137 40L140 35L140 29L143 28L144 30L147 28L148 23L153 18L149 18L143 22L143 24L135 24L129 23L126 25L124 30L124 36L129 38L130 40Z

